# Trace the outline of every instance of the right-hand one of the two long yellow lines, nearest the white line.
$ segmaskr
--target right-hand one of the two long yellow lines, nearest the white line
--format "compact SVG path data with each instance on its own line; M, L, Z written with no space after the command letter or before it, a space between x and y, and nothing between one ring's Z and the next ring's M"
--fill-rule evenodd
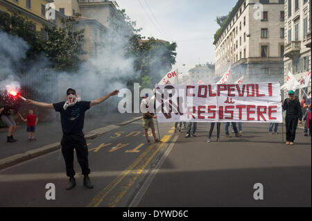
M150 157L148 158L147 161L145 161L144 165L141 166L141 168L138 168L137 170L132 170L132 174L135 175L135 177L132 177L129 182L128 185L123 186L123 191L121 193L119 193L119 195L117 195L116 199L111 202L110 204L108 204L108 206L110 207L114 207L116 206L119 201L122 199L122 197L125 195L125 193L127 193L127 191L129 190L129 188L135 184L135 180L137 180L137 178L139 177L139 175L141 175L141 173L143 172L143 170L146 168L146 166L148 166L148 163L150 163L150 161L155 157L155 155L157 154L157 152L162 148L162 146L164 145L164 143L166 143L168 141L168 139L170 139L170 135L166 135L163 137L162 139L162 144L159 145L159 147L153 152L152 155L150 155Z

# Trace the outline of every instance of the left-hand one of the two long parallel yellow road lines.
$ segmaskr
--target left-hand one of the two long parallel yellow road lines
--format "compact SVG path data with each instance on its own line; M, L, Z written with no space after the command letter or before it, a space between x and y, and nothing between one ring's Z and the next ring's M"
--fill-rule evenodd
M130 166L128 166L128 168L123 170L123 172L120 175L118 175L118 177L113 179L113 181L110 182L108 186L106 186L100 193L98 193L87 207L97 207L99 204L101 204L104 198L121 182L121 180L123 180L123 178L126 175L128 175L128 173L130 173L130 171L133 168L135 168L135 166L137 166L137 164L139 163L139 161L141 161L141 159L144 159L146 154L148 154L148 152L150 152L150 150L152 150L154 146L155 146L155 143L153 145L150 145L148 150L144 151Z

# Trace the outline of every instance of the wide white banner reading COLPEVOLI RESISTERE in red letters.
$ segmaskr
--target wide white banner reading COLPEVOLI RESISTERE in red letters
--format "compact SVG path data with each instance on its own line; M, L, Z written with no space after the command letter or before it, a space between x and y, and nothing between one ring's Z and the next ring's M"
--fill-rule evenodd
M155 85L158 122L282 122L278 82Z

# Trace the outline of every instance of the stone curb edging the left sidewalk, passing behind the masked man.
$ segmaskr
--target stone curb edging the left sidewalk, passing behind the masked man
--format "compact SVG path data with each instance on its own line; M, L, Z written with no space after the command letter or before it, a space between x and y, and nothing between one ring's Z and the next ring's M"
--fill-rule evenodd
M129 121L124 121L122 123L116 123L115 125L108 125L106 127L101 127L96 130L89 131L85 133L85 139L95 139L98 136L101 136L107 132L110 132L111 130L115 130L116 128L119 128L121 126L127 125L129 123L138 121L142 117L135 117L132 118ZM41 148L36 148L34 150L28 150L27 152L21 153L21 154L15 154L11 157L6 157L3 159L0 159L0 170L3 170L4 168L8 168L10 166L15 166L18 163L28 161L30 159L34 159L36 157L40 157L44 154L47 154L49 152L53 152L55 150L59 150L61 148L60 143L51 143L49 145L44 145Z

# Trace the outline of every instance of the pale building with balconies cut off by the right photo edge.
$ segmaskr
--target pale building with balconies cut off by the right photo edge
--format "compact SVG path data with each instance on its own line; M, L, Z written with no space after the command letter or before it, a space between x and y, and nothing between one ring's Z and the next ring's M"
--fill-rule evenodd
M297 80L311 71L311 0L285 1L284 80L291 71ZM305 91L311 91L311 84ZM296 91L300 98L302 90Z

